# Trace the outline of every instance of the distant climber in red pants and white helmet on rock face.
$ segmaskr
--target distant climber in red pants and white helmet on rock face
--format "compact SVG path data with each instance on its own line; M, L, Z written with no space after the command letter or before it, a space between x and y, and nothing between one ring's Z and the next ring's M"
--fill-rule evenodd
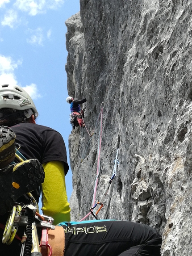
M79 104L85 103L87 100L86 98L79 101L79 100L74 100L73 97L67 97L66 99L67 103L71 104L70 105L70 123L73 126L73 129L75 129L75 126L80 126L80 127L85 127L83 124L82 118L84 118L84 110L80 108Z

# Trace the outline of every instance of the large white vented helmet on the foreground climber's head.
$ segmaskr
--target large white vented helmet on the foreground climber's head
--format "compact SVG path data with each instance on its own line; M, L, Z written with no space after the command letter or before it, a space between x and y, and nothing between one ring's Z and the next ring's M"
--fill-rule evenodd
M18 85L0 84L0 109L3 108L17 110L32 109L35 118L38 117L38 111L31 97ZM25 116L27 117L27 113Z

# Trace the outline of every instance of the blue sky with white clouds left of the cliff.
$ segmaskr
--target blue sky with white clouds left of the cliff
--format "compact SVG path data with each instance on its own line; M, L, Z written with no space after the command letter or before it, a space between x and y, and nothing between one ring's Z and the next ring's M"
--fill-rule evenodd
M25 88L38 109L37 123L58 130L67 152L71 125L65 21L79 8L79 0L0 0L0 84ZM68 197L71 179L70 169Z

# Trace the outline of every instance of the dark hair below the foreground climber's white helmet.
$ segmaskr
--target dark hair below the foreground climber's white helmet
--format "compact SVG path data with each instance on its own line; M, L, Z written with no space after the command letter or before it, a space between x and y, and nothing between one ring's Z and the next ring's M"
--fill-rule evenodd
M25 118L24 110L16 109L0 109L0 125L2 126L14 126L21 122L27 122Z

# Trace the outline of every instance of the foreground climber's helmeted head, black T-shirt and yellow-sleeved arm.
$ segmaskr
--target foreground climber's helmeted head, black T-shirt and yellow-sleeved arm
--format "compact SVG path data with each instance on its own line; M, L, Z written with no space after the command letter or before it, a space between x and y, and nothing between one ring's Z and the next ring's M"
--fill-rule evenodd
M38 111L23 88L14 84L0 85L0 126L11 127L25 159L38 159L44 168L43 214L54 218L54 224L70 221L65 184L69 169L65 143L56 130L36 124L37 117ZM40 194L35 196L38 201Z

